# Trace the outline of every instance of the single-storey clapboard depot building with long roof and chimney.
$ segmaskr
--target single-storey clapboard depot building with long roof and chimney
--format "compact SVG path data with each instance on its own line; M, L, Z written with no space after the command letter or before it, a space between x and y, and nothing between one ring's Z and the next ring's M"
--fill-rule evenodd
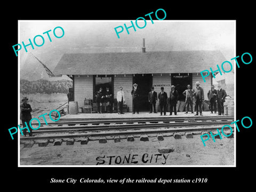
M217 64L225 61L220 51L156 51L146 52L145 45L142 52L104 52L104 53L68 53L55 67L54 75L67 75L73 79L74 101L78 107L84 106L84 100L95 102L95 92L99 87L116 93L123 87L127 107L132 111L132 85L138 84L140 89L140 111L148 111L148 92L151 86L159 93L161 86L169 97L171 85L179 92L179 100L185 101L182 92L189 84L192 89L199 81L207 92L211 89L212 74L205 77L200 74L205 69L216 70ZM158 107L158 102L157 102Z

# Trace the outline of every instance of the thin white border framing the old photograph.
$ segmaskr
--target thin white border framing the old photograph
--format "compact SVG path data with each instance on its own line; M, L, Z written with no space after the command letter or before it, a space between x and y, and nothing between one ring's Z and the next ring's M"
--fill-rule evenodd
M130 20L18 20L18 42L20 42L20 22L119 22L119 21L127 22ZM153 21L154 22L231 22L233 21L234 22L234 46L235 46L234 57L236 57L236 20L153 20ZM234 61L234 66L236 66L235 61ZM234 78L235 78L234 79L234 120L236 121L236 67L234 67ZM20 124L20 54L18 54L18 125L19 124ZM18 132L18 167L236 167L236 129L235 128L234 128L234 132L235 132L234 134L234 165L20 165L20 134Z

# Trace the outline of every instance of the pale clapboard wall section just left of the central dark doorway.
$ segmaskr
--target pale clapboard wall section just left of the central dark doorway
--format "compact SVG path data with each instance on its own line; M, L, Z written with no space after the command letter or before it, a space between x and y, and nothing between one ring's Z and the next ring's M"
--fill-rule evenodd
M132 75L116 75L114 77L114 98L116 99L117 91L119 87L123 87L124 99L127 107L129 107L130 112L132 111Z

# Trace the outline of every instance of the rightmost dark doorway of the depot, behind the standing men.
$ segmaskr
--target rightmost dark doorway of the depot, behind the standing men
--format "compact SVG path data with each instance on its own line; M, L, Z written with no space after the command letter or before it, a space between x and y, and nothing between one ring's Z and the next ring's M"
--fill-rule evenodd
M186 89L187 86L190 85L191 89L192 87L192 74L188 73L180 73L180 74L171 74L171 81L172 85L175 86L175 89L179 93L179 100L185 101L185 96L182 94Z

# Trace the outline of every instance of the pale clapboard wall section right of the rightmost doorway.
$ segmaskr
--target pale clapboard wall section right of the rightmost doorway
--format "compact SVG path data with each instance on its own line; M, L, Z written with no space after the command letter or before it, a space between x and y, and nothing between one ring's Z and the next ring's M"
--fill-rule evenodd
M200 82L200 85L204 89L204 99L208 100L207 92L211 89L211 77L210 75L205 77L205 82L200 73L193 73L192 74L192 87L196 87L196 82Z

